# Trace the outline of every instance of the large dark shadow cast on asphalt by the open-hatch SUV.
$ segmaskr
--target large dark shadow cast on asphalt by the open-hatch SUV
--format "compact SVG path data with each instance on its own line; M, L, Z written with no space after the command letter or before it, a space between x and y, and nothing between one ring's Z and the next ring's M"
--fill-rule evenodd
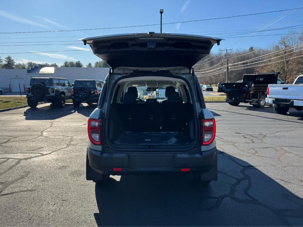
M302 225L303 199L249 163L219 151L218 181L121 176L95 186L98 226Z

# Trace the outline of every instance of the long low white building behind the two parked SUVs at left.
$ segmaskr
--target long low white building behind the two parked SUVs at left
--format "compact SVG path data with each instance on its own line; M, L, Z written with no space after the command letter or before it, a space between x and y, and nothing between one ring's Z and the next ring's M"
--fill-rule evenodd
M104 80L109 68L45 67L38 65L31 69L0 69L0 88L4 92L26 92L32 77L61 77L72 84L76 79Z

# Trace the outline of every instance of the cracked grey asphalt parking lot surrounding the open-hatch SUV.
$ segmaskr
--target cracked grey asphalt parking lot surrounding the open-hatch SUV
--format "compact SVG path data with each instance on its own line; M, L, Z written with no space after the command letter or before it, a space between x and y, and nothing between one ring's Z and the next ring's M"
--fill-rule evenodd
M303 111L206 105L217 122L219 170L207 187L189 176L86 181L93 107L0 113L0 225L303 225Z

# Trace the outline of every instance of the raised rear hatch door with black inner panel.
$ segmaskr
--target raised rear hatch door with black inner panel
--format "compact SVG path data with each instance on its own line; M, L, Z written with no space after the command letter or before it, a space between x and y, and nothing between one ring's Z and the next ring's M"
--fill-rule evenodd
M93 53L116 67L186 67L208 55L221 39L197 35L139 33L81 39Z

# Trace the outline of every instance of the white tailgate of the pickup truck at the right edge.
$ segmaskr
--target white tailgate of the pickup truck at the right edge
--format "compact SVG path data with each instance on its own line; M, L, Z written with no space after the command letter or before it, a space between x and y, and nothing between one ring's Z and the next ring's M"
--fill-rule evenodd
M268 98L303 100L303 84L270 84Z

